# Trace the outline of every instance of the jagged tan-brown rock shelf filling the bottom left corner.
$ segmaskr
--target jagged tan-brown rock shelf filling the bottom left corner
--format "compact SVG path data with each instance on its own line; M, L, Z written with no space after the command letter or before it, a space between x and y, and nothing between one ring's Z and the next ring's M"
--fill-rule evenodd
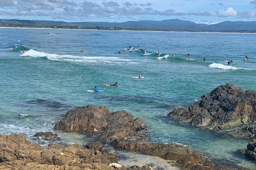
M95 150L78 144L53 143L41 147L30 143L24 135L0 135L0 169L114 170L110 163L117 163L113 149Z

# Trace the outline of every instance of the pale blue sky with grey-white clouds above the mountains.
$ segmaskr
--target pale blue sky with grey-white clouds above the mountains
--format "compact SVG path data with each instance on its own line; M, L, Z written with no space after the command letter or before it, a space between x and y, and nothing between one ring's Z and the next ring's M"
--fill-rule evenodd
M256 0L0 0L0 19L255 21Z

